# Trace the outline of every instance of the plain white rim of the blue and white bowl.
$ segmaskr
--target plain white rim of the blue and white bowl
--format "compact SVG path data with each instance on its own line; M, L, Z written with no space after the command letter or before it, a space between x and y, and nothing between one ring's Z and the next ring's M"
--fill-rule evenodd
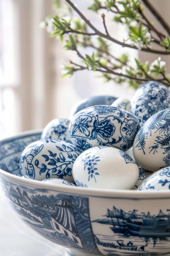
M0 140L0 146L7 143L8 141L22 138L30 135L38 135L42 132L42 129L29 130L25 132L20 132L18 135L7 137ZM48 184L39 180L24 179L21 176L8 173L0 168L0 176L10 180L11 182L17 182L21 185L32 186L38 189L52 190L56 192L69 193L69 194L79 194L93 197L101 198L129 198L129 199L163 199L170 198L170 190L162 191L138 191L130 189L99 189L99 188L83 188L76 186L63 186L62 184Z

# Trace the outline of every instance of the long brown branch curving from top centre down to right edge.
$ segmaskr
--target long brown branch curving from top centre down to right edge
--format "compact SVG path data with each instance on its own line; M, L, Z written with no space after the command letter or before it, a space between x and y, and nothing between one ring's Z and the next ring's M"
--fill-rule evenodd
M94 27L91 22L83 15L83 13L81 11L79 11L79 9L77 9L77 7L70 1L70 0L66 0L66 2L68 4L70 4L70 6L79 14L79 16L86 22L86 24L91 27L91 29L93 29L93 31L95 31L95 33L98 36L101 36L102 38L106 38L114 43L117 43L119 45L121 45L122 47L128 47L128 48L132 48L132 49L138 49L135 46L126 44L126 43L122 43L119 40L116 40L115 38L112 38L111 36L107 35L107 34L103 34L102 32L100 32L96 27ZM83 33L82 33L83 34ZM165 54L165 55L169 55L170 52L166 52L166 51L160 51L160 50L153 50L153 49L148 49L148 48L142 48L141 49L144 52L150 52L150 53L155 53L155 54Z

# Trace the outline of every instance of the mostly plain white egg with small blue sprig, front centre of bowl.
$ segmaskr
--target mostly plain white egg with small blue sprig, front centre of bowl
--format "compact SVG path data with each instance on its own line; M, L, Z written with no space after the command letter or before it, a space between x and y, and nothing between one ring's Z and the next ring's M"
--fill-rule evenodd
M102 189L132 189L139 177L136 162L125 152L98 146L80 154L73 164L77 186Z

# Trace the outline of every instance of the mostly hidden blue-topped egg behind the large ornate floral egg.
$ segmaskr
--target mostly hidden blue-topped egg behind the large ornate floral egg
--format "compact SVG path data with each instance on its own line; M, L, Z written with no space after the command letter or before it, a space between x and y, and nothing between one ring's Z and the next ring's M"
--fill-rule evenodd
M72 119L77 112L84 108L88 108L95 105L111 105L113 101L115 101L116 99L117 98L113 96L98 95L78 101L71 109L70 119Z

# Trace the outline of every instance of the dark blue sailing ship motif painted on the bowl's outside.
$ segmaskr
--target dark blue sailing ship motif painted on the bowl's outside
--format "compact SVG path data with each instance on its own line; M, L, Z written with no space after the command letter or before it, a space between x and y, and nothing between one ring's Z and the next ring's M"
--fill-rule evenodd
M169 209L167 211L170 211ZM155 215L148 213L137 213L137 210L125 212L122 209L107 209L107 219L95 220L102 224L112 225L110 229L114 233L121 233L124 236L133 235L140 237L169 237L170 236L170 213L163 213L161 210Z

